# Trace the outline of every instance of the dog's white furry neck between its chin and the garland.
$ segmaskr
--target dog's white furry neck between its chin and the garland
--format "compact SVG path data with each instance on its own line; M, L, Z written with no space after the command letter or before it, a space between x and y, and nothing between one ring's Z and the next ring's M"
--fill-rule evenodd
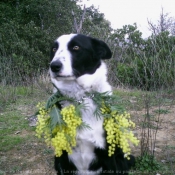
M111 86L107 82L107 69L105 63L94 74L85 74L77 79L59 80L51 78L52 83L60 90L63 95L81 99L85 92L111 92ZM54 89L56 92L57 89Z

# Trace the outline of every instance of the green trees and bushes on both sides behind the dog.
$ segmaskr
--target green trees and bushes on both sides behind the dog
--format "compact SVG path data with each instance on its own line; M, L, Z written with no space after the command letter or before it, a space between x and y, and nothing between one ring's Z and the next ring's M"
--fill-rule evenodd
M0 83L32 82L48 69L50 43L75 32L83 10L78 0L8 0L0 2ZM137 24L113 30L94 6L86 8L82 32L107 42L113 52L110 83L156 90L174 86L175 36L168 31L143 39ZM14 81L15 79L15 81Z

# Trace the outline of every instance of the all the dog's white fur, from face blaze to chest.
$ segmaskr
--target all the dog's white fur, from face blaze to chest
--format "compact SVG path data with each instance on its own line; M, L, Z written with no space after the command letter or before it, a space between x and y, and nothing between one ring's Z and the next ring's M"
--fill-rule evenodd
M58 58L62 60L62 57L66 57L65 62L64 59L62 60L64 64L62 74L72 75L72 68L68 61L71 59L71 56L66 49L66 43L71 39L71 37L64 38L67 40L62 40L62 38L58 39L60 47L54 57L54 60ZM60 50L63 51L60 53ZM111 92L111 86L107 82L106 74L106 65L101 62L100 67L94 74L85 74L75 79L75 77L55 78L51 73L51 80L62 94L81 100L82 97L85 96L85 92ZM54 89L54 91L56 91L56 89ZM94 116L96 105L94 104L93 99L86 98L84 103L88 106L88 108L86 110L82 110L82 119L91 127L91 129L77 131L77 146L73 148L73 153L69 155L69 159L73 161L79 170L79 173L77 173L78 175L97 175L101 170L98 172L92 172L88 171L88 167L93 159L95 159L94 148L98 147L104 149L106 146L103 130L103 118L101 117L99 119Z

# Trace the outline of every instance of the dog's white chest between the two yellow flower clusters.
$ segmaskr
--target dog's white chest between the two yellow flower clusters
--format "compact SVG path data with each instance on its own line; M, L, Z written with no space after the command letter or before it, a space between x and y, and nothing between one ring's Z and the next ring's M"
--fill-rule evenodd
M96 147L103 149L105 147L105 139L103 120L94 116L96 106L91 99L87 99L86 103L88 109L82 111L82 120L90 128L77 131L77 145L73 148L73 153L69 155L69 159L80 172L84 171L88 174L90 164L96 159L94 149Z

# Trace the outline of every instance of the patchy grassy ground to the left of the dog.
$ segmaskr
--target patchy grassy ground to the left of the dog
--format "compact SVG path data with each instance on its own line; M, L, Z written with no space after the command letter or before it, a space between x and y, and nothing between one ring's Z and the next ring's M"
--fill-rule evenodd
M8 103L7 94L9 90L13 90L13 87L0 89L0 94L5 94L3 108L0 109L0 175L17 172L25 174L27 169L40 169L39 165L43 160L37 154L42 155L43 158L47 157L45 160L48 159L49 162L51 162L49 156L53 155L53 151L35 137L35 127L30 127L28 121L28 117L36 111L36 104L45 101L48 94L43 93L42 89L14 88L15 101ZM38 162L38 166L35 161ZM49 163L48 166L53 168L52 165Z

